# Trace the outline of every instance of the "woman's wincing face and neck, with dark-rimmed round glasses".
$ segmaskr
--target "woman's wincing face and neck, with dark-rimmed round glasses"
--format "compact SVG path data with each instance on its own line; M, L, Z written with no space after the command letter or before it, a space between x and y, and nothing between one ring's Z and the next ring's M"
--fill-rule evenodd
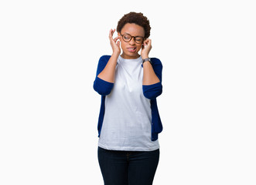
M125 42L123 37L121 35L131 35L136 37L136 43L135 38L132 37L130 41ZM121 32L118 32L118 35L121 36L121 49L123 50L123 53L121 54L121 57L124 59L137 59L139 57L138 52L142 48L141 37L144 38L145 32L142 26L136 25L134 23L127 23L122 29Z

